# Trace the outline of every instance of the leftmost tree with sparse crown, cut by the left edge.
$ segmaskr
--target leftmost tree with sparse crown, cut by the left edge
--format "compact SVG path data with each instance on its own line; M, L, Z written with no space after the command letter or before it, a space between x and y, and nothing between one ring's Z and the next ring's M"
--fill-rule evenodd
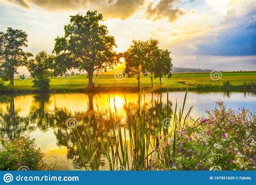
M14 87L14 73L18 66L23 65L32 54L24 52L27 47L28 35L22 30L8 28L6 33L0 32L0 59L2 67L8 72L11 86Z

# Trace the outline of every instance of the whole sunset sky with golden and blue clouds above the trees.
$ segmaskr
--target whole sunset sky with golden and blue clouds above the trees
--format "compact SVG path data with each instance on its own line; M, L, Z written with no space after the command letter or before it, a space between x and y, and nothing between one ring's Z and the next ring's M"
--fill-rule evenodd
M24 50L51 53L71 15L97 10L117 51L133 39L158 39L177 67L256 70L256 1L0 0L0 31L28 34Z

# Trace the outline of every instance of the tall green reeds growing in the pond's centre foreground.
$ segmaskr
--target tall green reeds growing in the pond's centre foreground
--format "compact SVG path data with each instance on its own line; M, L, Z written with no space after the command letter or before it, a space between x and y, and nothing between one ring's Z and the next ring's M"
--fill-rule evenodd
M110 122L104 122L102 117L99 117L99 122L103 122L104 135L100 140L100 147L103 150L103 157L109 165L110 170L149 170L151 168L151 160L157 159L161 161L167 168L172 168L176 157L176 136L177 131L186 126L186 121L190 115L192 107L186 113L184 108L187 98L185 93L183 106L177 110L177 100L174 113L171 109L171 102L169 101L167 93L167 102L163 106L161 97L156 102L157 107L154 107L152 102L151 109L142 105L142 98L145 100L145 93L140 90L139 101L136 108L129 108L125 98L126 107L126 124L120 124L118 109L114 99L114 110L109 104ZM157 113L153 111L157 110ZM173 113L173 114L172 114ZM173 117L173 118L172 118ZM171 126L171 119L173 125ZM167 120L167 124L164 122ZM78 143L79 155L82 159L83 166L86 170L99 170L100 159L97 158L97 150L99 149L93 145L93 138L91 135L89 120L87 126L84 126L86 133L82 138L76 129L73 129L73 134ZM95 123L94 123L95 124ZM160 151L160 143L166 141L167 136L173 136L172 146L166 147L164 151ZM164 157L160 157L160 153L164 152Z

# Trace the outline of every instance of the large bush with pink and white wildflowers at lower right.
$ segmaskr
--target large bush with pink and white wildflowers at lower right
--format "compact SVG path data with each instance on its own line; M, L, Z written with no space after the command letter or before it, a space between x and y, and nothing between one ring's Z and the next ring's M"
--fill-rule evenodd
M165 138L165 139L164 139ZM172 135L166 135L152 169L165 169L160 159L173 151ZM217 102L207 116L177 132L174 170L253 170L255 169L255 114L244 108L235 112ZM151 159L153 161L153 159Z

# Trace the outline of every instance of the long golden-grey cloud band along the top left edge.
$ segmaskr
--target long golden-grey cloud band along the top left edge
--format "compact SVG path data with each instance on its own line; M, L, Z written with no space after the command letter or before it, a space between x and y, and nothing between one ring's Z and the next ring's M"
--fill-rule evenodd
M31 8L37 6L49 11L72 11L79 9L97 10L107 18L125 19L131 17L144 5L144 0L6 0Z

